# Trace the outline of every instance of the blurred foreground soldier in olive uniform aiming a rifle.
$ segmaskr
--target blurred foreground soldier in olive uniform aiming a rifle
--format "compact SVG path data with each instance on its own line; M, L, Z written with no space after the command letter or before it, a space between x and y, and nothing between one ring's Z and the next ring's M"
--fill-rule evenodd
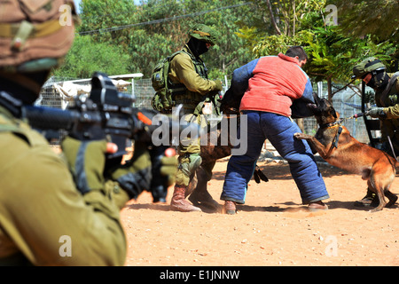
M0 5L0 265L124 264L120 209L150 183L144 147L105 177L106 140L66 137L61 159L21 119L20 106L33 104L73 43L71 12L67 0ZM176 158L167 159L162 168L174 177Z

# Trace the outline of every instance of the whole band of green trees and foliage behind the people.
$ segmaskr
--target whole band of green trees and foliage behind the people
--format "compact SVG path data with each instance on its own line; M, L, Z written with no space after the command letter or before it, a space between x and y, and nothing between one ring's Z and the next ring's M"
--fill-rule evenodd
M184 46L195 22L219 31L219 44L202 56L212 79L223 80L249 60L292 45L308 52L305 71L314 81L348 82L352 67L368 56L379 57L391 71L397 68L397 0L249 1L147 0L135 5L131 0L83 0L77 29L82 36L76 36L66 65L54 73L141 72L150 77L160 59ZM338 7L338 26L325 25L327 4Z

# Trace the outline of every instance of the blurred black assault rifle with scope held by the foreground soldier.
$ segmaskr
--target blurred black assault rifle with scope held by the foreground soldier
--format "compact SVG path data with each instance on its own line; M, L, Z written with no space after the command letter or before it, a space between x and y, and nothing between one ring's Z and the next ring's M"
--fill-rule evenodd
M90 96L75 98L74 106L66 110L21 106L21 117L27 118L37 130L66 130L69 136L82 141L111 138L111 142L118 146L118 151L107 154L107 162L121 162L121 156L126 154L128 139L145 142L150 151L153 173L151 188L147 190L153 194L154 202L165 202L168 182L166 177L160 176L160 159L170 151L165 152L168 146L153 145L153 131L159 127L153 125L153 117L158 113L133 107L135 100L133 96L118 92L106 74L97 72L91 78ZM178 129L180 133L181 127L173 125L178 122L169 122L170 132Z

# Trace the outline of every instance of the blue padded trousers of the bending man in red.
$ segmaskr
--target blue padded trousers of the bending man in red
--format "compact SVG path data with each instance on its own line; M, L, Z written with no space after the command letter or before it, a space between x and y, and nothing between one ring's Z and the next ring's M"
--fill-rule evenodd
M254 167L265 139L268 139L278 154L289 163L303 204L329 198L308 142L293 138L293 133L301 132L295 122L279 114L259 111L244 111L243 114L247 115L247 125L239 127L247 130L246 154L231 155L221 200L245 203L247 184L254 175ZM238 133L241 131L242 129Z

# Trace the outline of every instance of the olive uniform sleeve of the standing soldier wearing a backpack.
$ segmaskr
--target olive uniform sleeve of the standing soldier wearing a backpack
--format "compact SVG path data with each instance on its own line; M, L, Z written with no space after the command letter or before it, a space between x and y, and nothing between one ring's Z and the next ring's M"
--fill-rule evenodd
M209 91L215 90L215 81L202 78L195 72L192 59L190 59L190 56L187 54L177 54L170 62L170 70L169 76L172 82L184 83L184 86L190 91L205 95Z

